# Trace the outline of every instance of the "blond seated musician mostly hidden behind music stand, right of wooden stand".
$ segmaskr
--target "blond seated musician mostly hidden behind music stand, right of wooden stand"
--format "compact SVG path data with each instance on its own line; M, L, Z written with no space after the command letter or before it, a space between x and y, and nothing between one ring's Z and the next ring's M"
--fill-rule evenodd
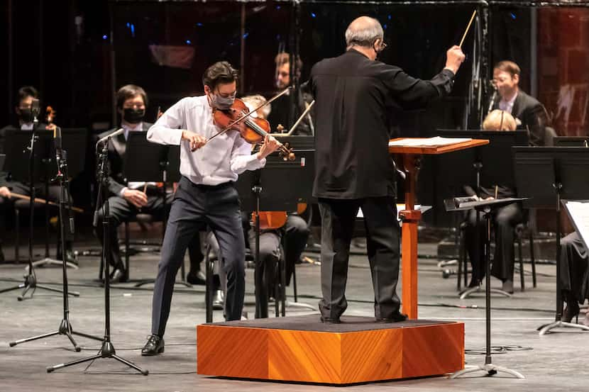
M483 121L484 130L515 130L516 121L510 113L506 111L494 110L485 121ZM478 196L481 199L488 200L492 198L514 197L515 192L507 186L494 184L492 186L481 186L479 193L474 191L470 186L466 186L468 196ZM495 228L495 256L492 259L491 274L503 283L502 290L507 293L513 293L513 266L514 266L514 229L524 219L522 208L519 204L514 203L508 206L498 208L492 216L492 224ZM480 219L478 228L476 227L476 212L470 210L466 216L465 241L466 249L470 263L473 266L472 279L468 287L480 285L485 277L485 253L484 245L487 237L485 231L485 220ZM478 235L478 252L476 247L475 236Z

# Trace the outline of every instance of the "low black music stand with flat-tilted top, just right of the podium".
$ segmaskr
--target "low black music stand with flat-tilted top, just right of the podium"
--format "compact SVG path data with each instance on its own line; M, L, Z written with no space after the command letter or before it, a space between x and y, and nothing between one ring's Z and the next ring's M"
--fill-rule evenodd
M454 204L454 199L444 201L446 211L467 211L475 209L477 211L477 225L479 223L480 214L484 215L487 221L487 237L485 241L485 364L467 367L453 373L450 378L456 379L463 374L473 373L474 371L485 371L488 376L493 376L497 373L507 373L518 379L524 379L525 377L518 371L507 369L506 367L497 366L492 364L491 360L491 264L490 264L490 246L491 246L491 215L497 208L507 206L508 204L517 203L524 201L525 198L500 198L494 200L484 201L473 201L470 203L462 203L460 206Z

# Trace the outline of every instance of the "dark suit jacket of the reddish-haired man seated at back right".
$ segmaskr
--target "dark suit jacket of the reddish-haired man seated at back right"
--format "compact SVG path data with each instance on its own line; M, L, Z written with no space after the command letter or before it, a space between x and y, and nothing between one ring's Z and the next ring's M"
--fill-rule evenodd
M498 96L493 104L493 109L499 108L501 97ZM544 106L534 97L519 90L512 108L512 116L522 123L517 128L528 130L529 144L542 146L545 144L546 111Z

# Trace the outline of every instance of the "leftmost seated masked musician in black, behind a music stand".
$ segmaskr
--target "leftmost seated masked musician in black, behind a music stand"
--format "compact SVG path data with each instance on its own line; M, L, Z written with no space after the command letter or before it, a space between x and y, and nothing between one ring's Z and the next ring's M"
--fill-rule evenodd
M6 145L6 130L9 128L20 128L21 130L33 130L33 113L31 112L31 106L33 99L38 99L38 91L33 86L23 86L18 89L16 96L16 102L18 106L14 108L16 116L18 116L18 125L8 125L0 130L0 139L4 140L4 143L0 144L0 153L4 153L7 148ZM39 119L41 120L41 119ZM53 130L55 124L46 125L43 122L39 122L37 129ZM9 162L4 163L4 167L7 167ZM4 253L2 252L2 237L4 237L3 230L6 230L6 215L9 211L13 211L13 202L16 200L16 194L31 196L31 190L28 184L25 184L18 179L11 177L8 172L2 172L0 168L0 263L4 262ZM45 185L35 184L35 197L46 198L54 203L60 201L60 186L50 185L48 194L45 194ZM57 209L55 211L57 213ZM77 264L77 261L72 252L72 236L67 234L65 240L66 255L65 260L67 262ZM60 253L61 247L58 248Z

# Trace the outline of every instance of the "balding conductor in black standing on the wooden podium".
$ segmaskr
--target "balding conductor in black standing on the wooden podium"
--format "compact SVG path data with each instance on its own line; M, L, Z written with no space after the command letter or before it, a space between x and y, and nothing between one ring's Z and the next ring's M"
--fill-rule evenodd
M372 271L375 318L405 320L397 280L400 228L395 165L388 152L393 106L419 108L446 96L465 56L446 52L446 67L431 80L410 77L377 59L385 49L379 21L356 18L346 30L347 50L311 70L315 105L316 172L313 196L321 211L321 321L339 323L346 310L348 258L354 221L362 208Z

